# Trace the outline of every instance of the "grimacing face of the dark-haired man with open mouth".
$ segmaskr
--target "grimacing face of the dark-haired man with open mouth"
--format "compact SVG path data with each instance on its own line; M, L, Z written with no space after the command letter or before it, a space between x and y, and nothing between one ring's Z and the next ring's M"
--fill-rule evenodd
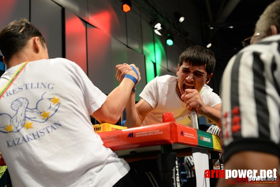
M204 84L208 84L213 73L207 76L206 64L194 65L184 61L181 67L177 69L178 86L181 94L185 93L185 89L196 89L198 92Z

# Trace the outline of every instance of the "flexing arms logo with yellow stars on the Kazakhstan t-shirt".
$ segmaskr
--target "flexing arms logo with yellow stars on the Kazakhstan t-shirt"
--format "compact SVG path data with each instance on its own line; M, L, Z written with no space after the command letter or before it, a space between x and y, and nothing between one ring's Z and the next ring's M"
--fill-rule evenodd
M47 97L45 93L43 93L42 97L37 101L35 108L29 108L29 101L27 98L17 98L14 100L11 103L11 109L15 111L15 113L0 114L0 132L19 132L23 127L28 130L33 128L33 122L44 123L48 118L52 117L59 108L60 98L56 98L55 96Z

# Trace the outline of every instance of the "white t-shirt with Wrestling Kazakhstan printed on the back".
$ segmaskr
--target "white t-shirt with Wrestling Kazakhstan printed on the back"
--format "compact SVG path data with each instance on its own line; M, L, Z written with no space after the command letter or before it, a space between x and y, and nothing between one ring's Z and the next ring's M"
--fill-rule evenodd
M0 89L19 67L2 75ZM109 187L126 175L129 165L90 121L105 100L74 62L29 62L0 99L0 151L12 185Z

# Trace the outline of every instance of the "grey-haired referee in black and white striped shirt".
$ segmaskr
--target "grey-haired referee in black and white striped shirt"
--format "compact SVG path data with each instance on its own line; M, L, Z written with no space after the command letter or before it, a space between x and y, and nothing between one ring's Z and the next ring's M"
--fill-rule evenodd
M232 57L221 82L224 167L257 170L256 176L260 170L279 174L280 0L266 7L248 39L252 45ZM232 186L224 178L218 182L227 185Z

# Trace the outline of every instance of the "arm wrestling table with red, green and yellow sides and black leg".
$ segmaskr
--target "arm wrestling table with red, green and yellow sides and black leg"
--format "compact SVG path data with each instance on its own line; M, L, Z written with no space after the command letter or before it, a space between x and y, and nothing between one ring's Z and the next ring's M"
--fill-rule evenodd
M104 146L117 152L126 161L158 158L159 176L163 187L176 184L180 175L177 155L191 155L191 147L222 151L220 137L176 122L163 122L144 127L98 133ZM175 154L175 157L174 157ZM167 168L164 164L174 163ZM161 170L162 169L162 170ZM172 184L172 185L171 185Z

